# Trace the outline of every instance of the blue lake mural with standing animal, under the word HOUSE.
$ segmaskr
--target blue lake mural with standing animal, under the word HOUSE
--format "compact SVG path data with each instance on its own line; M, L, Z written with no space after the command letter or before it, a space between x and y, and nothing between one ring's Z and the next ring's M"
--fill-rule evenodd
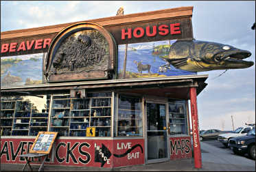
M124 59L126 44L119 45L117 78L148 78L197 74L196 72L174 68L170 64L167 65L165 58L168 57L170 46L174 42L176 40L128 44L125 75Z

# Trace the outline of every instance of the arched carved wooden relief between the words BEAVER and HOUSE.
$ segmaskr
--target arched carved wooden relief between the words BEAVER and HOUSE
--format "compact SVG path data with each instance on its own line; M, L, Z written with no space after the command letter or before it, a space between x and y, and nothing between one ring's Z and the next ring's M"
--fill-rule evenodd
M45 61L48 82L112 78L116 44L110 33L95 23L78 23L60 31L51 42Z

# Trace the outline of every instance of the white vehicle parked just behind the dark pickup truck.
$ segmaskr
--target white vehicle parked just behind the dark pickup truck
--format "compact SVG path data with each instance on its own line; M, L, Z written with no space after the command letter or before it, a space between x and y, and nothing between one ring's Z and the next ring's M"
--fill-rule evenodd
M218 136L218 141L220 141L225 147L229 147L229 139L233 137L245 136L251 129L253 129L253 125L247 125L244 127L237 128L234 132L220 134Z

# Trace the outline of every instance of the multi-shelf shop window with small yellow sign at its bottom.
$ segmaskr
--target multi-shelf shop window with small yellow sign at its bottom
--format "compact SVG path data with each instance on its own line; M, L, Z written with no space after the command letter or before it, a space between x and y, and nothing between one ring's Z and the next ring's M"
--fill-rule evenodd
M50 130L66 137L110 137L111 100L111 93L88 93L86 98L54 95Z

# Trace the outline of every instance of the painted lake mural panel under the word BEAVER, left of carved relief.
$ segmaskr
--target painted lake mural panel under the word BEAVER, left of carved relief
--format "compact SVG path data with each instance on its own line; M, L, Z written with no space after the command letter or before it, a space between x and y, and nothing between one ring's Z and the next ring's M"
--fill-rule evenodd
M1 87L43 82L43 53L1 57Z

